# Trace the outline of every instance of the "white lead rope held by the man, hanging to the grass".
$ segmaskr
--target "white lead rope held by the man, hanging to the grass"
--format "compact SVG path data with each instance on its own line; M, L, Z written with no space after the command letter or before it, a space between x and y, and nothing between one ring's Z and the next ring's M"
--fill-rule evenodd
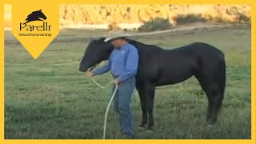
M110 86L111 83L113 83L113 81L111 81L111 82L108 83L106 86L101 86L98 82L95 81L94 78L92 78L92 77L90 77L90 78L91 78L91 80L92 80L98 87L100 87L101 89L105 89L106 87ZM107 114L108 114L108 112L109 112L109 110L110 110L111 102L113 101L114 95L116 94L117 90L118 90L118 85L115 86L114 93L112 94L112 96L111 96L111 98L110 98L110 102L109 102L109 104L108 104L107 107L106 107L105 118L104 118L104 128L103 128L103 139L106 138L106 119L107 119Z

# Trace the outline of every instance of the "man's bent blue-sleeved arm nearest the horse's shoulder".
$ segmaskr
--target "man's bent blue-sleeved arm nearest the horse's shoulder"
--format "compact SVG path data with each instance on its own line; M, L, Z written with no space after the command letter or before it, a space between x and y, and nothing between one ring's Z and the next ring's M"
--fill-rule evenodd
M138 70L138 50L130 49L126 59L125 71L118 77L119 82L124 82L126 79L135 75Z

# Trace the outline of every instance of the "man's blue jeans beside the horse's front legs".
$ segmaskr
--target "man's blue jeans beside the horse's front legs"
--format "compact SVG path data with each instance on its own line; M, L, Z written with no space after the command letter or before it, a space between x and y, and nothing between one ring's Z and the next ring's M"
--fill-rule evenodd
M122 132L127 135L134 135L133 115L131 111L131 99L135 88L135 77L127 79L118 85L118 90L114 95L114 110L118 114L118 121ZM113 86L113 92L115 85Z

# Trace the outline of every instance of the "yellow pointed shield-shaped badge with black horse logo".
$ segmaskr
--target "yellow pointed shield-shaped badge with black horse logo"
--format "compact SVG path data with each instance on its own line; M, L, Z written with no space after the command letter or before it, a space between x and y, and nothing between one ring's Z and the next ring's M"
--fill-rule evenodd
M11 30L15 38L36 59L59 32L58 2L45 0L12 3Z

